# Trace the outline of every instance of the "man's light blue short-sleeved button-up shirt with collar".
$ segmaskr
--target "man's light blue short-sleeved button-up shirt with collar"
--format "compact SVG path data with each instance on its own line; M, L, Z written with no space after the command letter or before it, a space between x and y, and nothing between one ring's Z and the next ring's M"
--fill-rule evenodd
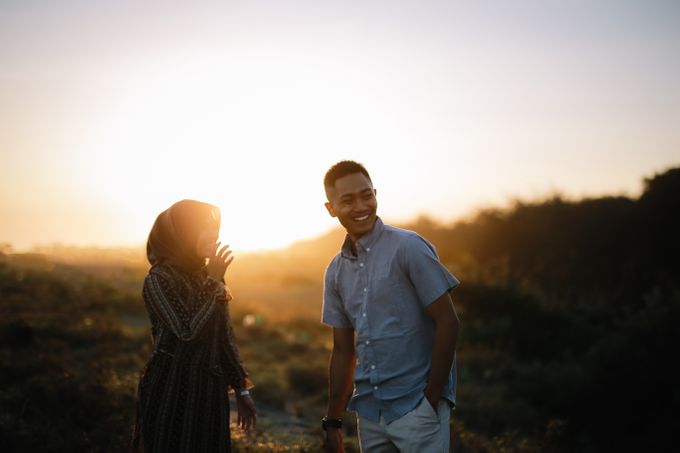
M355 330L357 365L348 410L387 423L423 398L432 366L434 321L425 307L458 286L432 244L383 224L356 244L345 238L326 269L322 322ZM456 359L442 397L455 405Z

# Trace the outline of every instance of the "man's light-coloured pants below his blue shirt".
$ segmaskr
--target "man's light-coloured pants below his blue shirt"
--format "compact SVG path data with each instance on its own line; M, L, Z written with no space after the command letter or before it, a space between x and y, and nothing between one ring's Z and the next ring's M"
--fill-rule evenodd
M451 408L441 399L435 413L427 398L401 418L375 423L359 418L359 442L362 453L448 453Z

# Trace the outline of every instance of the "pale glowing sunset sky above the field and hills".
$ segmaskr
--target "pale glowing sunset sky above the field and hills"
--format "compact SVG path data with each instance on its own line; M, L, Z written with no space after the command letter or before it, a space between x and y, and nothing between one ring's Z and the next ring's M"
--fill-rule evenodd
M337 223L636 196L680 165L680 2L0 0L0 243L143 244L194 198L236 250Z

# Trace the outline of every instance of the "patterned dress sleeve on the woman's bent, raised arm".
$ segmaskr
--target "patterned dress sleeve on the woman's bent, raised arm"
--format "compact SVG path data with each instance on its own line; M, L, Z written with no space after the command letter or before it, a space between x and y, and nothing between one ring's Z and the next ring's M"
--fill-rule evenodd
M195 314L191 314L173 282L156 272L150 272L146 277L143 294L149 311L182 341L198 337L220 298L224 298L224 291L202 292L202 297L208 300Z

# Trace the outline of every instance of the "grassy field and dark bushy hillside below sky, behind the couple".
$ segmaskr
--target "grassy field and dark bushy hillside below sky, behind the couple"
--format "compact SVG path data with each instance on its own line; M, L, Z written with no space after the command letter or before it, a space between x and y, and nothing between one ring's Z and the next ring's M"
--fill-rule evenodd
M462 280L457 452L666 451L680 431L680 169L638 199L560 198L420 219ZM237 451L319 451L330 332L324 266L342 233L229 271L261 409ZM140 250L0 247L0 451L124 451L150 353ZM347 415L348 451L357 451Z

